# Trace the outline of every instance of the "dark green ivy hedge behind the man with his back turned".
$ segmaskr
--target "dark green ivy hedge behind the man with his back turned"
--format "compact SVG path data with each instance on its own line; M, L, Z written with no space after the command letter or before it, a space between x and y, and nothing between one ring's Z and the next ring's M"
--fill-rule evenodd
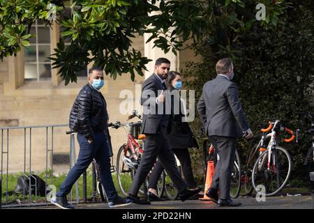
M233 2L226 1L231 6ZM246 1L246 7L250 1ZM253 1L251 1L253 2ZM281 1L282 2L282 1ZM292 130L301 131L310 127L311 122L297 115L297 112L313 112L314 82L314 24L313 2L292 1L294 8L278 16L276 26L261 26L244 17L243 8L234 8L237 17L232 26L212 24L204 31L202 43L195 47L202 56L202 62L189 63L184 74L188 89L200 89L204 82L216 77L215 65L218 59L230 56L234 61L234 82L239 87L241 104L248 123L255 136L261 124L279 119ZM312 11L311 11L312 10ZM243 15L243 16L242 16ZM216 18L221 20L223 14ZM239 22L241 21L241 22ZM195 97L201 92L196 91ZM200 128L199 118L193 123L195 132ZM281 134L281 138L287 135ZM302 163L311 139L301 135L301 145L280 142L287 148L292 162L292 176L306 175ZM239 141L242 161L248 153L248 143ZM199 151L200 152L200 151ZM194 154L197 158L199 155ZM199 158L197 158L199 160Z

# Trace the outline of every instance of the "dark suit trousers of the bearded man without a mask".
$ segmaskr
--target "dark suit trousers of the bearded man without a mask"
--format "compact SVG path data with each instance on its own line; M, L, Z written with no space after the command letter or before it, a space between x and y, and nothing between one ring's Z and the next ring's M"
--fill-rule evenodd
M167 174L170 176L172 183L174 183L174 187L176 187L179 192L188 187L186 181L184 181L179 174L174 153L170 148L167 137L165 137L164 134L146 134L144 152L140 166L137 168L132 181L129 194L137 195L147 174L149 174L149 171L154 166L157 156L167 171Z

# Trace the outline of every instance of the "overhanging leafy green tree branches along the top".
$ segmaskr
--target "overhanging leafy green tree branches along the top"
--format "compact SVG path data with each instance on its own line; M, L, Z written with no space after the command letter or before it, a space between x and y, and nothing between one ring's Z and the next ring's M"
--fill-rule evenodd
M130 38L150 33L149 41L163 51L174 54L183 49L183 43L192 38L197 47L200 37L214 29L216 36L208 38L220 54L237 59L239 49L232 47L239 38L252 34L255 24L255 6L259 1L244 0L77 0L66 15L68 1L1 0L0 1L0 59L16 55L21 47L29 46L29 31L40 19L51 25L52 13L57 15L61 37L70 41L69 47L58 45L49 58L54 68L68 82L77 81L77 72L91 61L105 70L113 79L130 72L144 75L150 61L131 46ZM278 16L285 12L287 1L261 1L267 7L266 21L261 26L277 24ZM54 4L54 5L52 5ZM52 7L55 6L55 7ZM62 15L61 17L58 17ZM233 31L232 36L225 29ZM254 33L254 32L253 32Z

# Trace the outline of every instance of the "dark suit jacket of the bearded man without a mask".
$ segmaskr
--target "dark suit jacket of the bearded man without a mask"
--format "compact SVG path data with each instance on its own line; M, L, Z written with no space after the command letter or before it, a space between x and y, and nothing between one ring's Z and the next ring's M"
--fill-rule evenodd
M156 104L156 98L162 90L165 90L165 87L155 74L147 78L142 86L140 103L144 107L143 134L165 134L167 132L169 114L165 114L165 102Z

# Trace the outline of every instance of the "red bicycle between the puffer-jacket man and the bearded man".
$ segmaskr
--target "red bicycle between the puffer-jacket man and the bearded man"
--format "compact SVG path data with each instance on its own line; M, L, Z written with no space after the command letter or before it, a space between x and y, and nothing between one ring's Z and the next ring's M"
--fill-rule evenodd
M133 114L128 117L128 120L134 117L141 118L137 111L133 111ZM117 121L116 123L110 123L109 126L115 129L124 128L127 131L128 142L120 146L117 155L117 178L119 187L124 196L128 196L128 191L130 190L130 185L132 184L133 178L135 176L137 167L140 165L140 159L144 148L145 135L140 134L140 127L142 121L137 121L135 123L121 123ZM154 168L154 167L153 167ZM147 178L140 189L140 193L147 197L147 187L149 182L149 176L151 171L147 175ZM162 197L165 190L165 173L163 172L158 180L157 192L158 196Z

